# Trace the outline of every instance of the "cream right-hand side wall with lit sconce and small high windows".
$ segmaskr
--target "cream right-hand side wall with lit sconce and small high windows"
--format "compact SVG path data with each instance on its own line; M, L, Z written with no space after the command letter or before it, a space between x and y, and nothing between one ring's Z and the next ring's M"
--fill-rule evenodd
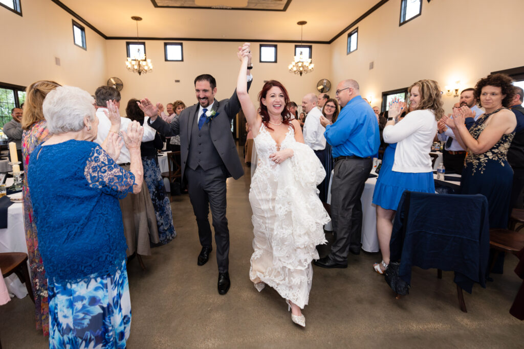
M331 44L332 82L355 79L372 105L380 105L382 92L424 78L441 89L456 81L460 89L474 87L492 71L524 65L513 15L522 13L521 0L423 1L422 15L399 27L400 0L390 0L359 22L356 51L346 55L347 32ZM446 112L458 100L443 94Z

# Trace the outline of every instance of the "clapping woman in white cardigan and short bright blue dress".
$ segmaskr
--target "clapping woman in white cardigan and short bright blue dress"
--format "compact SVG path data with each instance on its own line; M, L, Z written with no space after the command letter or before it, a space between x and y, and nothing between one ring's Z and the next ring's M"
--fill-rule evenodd
M408 110L399 120L405 103L396 100L389 106L384 127L384 141L390 143L373 193L377 205L377 237L382 261L373 268L383 274L389 264L389 240L398 203L405 190L434 193L431 144L436 134L436 121L444 114L439 85L433 80L420 80L411 85Z

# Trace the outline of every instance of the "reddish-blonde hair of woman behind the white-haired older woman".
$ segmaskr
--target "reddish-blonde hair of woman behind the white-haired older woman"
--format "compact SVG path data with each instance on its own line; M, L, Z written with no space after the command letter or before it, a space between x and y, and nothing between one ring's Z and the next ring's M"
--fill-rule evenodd
M54 81L41 80L32 83L26 88L22 128L28 130L35 122L43 120L42 103L47 94L53 89L62 86Z

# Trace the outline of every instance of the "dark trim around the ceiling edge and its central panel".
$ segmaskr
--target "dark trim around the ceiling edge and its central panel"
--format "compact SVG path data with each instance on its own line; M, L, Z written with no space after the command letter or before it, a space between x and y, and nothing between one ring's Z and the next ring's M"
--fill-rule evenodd
M135 38L132 38L132 37L108 37L103 32L101 32L100 30L96 29L90 22L88 22L85 19L83 19L82 17L80 17L72 9L70 9L67 6L65 6L62 2L60 2L60 0L51 0L51 1L53 3L55 3L55 4L57 4L58 6L60 6L65 12L69 13L71 16L73 16L74 18L76 18L79 21L81 21L83 24L85 24L86 27L92 29L95 33L97 33L98 35L100 35L102 38L104 38L106 40L134 40L135 39ZM335 35L329 41L303 41L303 42L304 43L315 43L315 44L330 44L333 41L335 41L336 39L338 39L339 37L341 37L346 31L348 31L352 27L356 26L358 24L358 22L360 22L361 20L363 20L364 18L366 18L367 16L369 16L370 14L375 12L376 9L378 9L380 6L384 5L388 1L389 0L381 0L380 2L378 2L375 6L373 6L369 10L367 10L367 12L365 14L363 14L360 17L358 17L355 21L352 22L352 24L350 24L349 26L344 28L344 30L339 32L337 35ZM153 5L155 7L170 7L170 8L172 8L171 6L158 6L158 5L155 5L156 4L155 0L151 0L151 3L153 3ZM286 3L286 6L283 9L284 11L287 10L287 8L288 8L290 3L291 3L291 0L288 0L287 3ZM177 7L177 8L180 8L180 7ZM188 7L188 8L193 8L193 7ZM202 7L195 7L195 8L202 8ZM236 8L232 8L232 9L236 9ZM274 11L274 10L272 10L272 11ZM212 41L212 42L239 42L239 41L242 41L242 42L297 43L296 40L213 39L213 38L210 38L210 39L201 39L201 38L140 38L140 39L142 39L142 40L165 40L165 41L179 40L179 41Z

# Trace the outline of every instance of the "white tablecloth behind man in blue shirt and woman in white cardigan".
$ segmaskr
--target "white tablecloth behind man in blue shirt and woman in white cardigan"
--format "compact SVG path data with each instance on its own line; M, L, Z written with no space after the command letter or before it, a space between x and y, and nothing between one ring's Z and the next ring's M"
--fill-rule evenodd
M441 153L442 154L442 153ZM372 171L374 173L374 171ZM451 182L451 184L460 185L460 175L450 175L456 177L457 181ZM436 174L433 174L433 177L436 179ZM380 247L378 245L377 237L377 216L376 216L376 205L372 203L373 201L373 192L375 191L375 184L377 183L377 178L368 178L364 185L364 192L362 192L361 202L362 202L362 249L367 252L378 252ZM328 204L331 204L331 183L333 181L333 171L331 172L331 180L329 185L328 192ZM324 227L325 230L331 231L333 228L331 222L326 224Z

